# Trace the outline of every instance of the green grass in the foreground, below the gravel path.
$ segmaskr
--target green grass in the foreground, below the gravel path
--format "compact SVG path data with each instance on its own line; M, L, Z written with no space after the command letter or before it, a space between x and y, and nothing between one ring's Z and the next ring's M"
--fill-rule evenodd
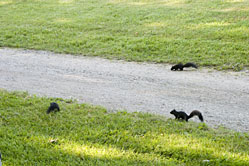
M61 111L46 114L52 101ZM249 165L248 147L248 133L204 123L0 91L3 166Z

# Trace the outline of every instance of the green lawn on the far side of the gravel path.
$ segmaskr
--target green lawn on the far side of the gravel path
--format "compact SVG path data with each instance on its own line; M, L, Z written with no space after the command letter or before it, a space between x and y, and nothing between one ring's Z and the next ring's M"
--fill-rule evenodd
M0 47L249 66L249 0L1 0Z

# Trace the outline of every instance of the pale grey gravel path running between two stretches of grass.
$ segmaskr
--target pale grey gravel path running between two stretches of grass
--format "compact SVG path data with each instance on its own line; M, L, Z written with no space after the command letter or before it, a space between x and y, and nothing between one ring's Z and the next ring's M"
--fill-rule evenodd
M198 109L208 125L249 131L248 71L169 69L168 65L0 48L0 88L172 118L169 112L174 108L187 113Z

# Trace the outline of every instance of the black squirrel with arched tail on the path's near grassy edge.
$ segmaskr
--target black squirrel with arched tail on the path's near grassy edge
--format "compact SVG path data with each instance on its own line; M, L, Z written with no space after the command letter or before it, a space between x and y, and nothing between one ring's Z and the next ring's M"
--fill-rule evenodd
M192 118L193 116L198 116L199 119L203 122L203 116L201 114L200 111L198 110L194 110L190 113L190 115L187 115L185 112L183 111L176 111L175 109L173 109L171 112L171 114L173 114L175 116L175 119L183 119L188 121L190 118Z

